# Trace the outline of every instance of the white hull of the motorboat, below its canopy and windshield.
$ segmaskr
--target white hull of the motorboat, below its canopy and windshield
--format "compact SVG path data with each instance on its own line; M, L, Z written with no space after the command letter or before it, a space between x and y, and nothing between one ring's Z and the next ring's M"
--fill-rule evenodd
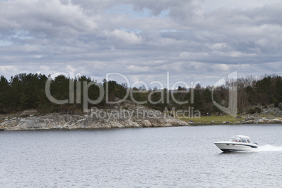
M258 146L253 143L246 142L214 142L214 144L222 150L222 152L250 151Z

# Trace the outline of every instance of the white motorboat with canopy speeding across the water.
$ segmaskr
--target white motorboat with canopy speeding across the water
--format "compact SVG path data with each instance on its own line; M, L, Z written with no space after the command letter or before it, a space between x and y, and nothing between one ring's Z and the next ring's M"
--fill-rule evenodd
M213 142L222 152L250 151L258 147L253 143L250 137L244 135L235 135L228 140Z

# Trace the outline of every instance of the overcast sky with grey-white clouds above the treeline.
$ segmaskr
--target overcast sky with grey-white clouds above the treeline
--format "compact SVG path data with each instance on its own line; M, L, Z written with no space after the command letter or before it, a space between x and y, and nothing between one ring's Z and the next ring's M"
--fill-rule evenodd
M281 0L0 0L0 74L165 85L169 72L170 86L282 75L281 18Z

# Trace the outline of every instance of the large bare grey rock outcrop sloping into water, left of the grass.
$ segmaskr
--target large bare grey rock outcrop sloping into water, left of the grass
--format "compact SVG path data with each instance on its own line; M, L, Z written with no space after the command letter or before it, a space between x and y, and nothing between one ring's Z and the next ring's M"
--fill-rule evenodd
M187 125L189 123L175 119L168 114L126 101L105 109L93 108L90 112L81 115L48 114L6 119L0 123L0 128L5 130L48 130Z

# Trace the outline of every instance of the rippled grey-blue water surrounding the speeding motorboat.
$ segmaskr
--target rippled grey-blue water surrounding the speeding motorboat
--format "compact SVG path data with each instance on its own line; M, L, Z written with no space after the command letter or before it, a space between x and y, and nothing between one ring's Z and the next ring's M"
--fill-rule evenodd
M256 152L213 142L248 135ZM282 187L282 126L0 132L0 187Z

